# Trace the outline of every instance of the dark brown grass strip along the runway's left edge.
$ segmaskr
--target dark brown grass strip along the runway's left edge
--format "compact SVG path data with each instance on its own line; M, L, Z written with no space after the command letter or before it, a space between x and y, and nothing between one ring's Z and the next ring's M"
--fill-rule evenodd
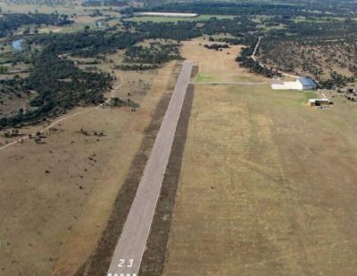
M162 98L156 106L150 125L145 128L144 139L139 150L137 150L135 158L133 158L131 162L129 172L115 199L105 231L97 247L91 256L87 258L86 264L76 272L76 275L99 275L107 271L112 261L112 254L120 237L122 227L129 214L132 201L135 198L137 186L145 169L145 163L150 155L156 134L161 126L167 105L169 104L173 84L178 75L179 67L176 67L172 71L172 77L165 89L165 93L162 94Z

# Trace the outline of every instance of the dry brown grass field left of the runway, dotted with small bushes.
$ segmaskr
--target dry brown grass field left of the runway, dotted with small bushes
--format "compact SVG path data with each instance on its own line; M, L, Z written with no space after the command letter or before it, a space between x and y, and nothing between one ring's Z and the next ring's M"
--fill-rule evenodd
M130 93L136 112L78 108L45 132L44 143L0 150L0 275L72 275L87 260L176 70L172 61L157 74L122 72L116 93ZM140 79L150 89L140 89Z

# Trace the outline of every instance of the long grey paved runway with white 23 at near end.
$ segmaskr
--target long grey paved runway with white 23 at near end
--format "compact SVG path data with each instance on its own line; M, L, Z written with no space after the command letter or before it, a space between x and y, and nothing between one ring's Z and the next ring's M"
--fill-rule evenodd
M115 248L108 276L137 276L139 272L192 68L192 61L185 61L182 66L162 126L156 135L153 150L137 187L137 194Z

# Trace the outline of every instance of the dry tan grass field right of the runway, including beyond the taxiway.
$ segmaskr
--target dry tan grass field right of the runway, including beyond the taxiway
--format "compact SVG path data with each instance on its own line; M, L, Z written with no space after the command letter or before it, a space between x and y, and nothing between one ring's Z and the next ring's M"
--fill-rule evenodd
M255 78L207 51L198 76ZM357 110L311 96L195 85L163 275L355 275Z

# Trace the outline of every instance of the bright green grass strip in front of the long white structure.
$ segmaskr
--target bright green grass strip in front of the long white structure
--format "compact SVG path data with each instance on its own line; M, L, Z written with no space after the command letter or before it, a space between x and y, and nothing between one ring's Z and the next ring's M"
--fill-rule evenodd
M197 17L164 17L164 16L134 16L127 20L136 21L136 22L177 22L177 21L203 21L211 20L213 17L217 19L231 19L234 18L233 15L211 15L211 14L202 14Z

